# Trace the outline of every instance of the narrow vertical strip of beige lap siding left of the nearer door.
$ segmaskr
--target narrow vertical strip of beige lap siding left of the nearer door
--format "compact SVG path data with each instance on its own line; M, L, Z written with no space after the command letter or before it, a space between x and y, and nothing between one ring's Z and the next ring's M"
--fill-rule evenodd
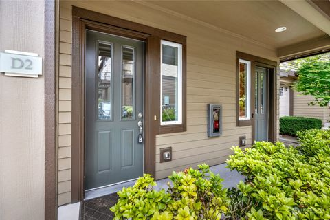
M60 11L58 78L58 206L71 202L72 11Z

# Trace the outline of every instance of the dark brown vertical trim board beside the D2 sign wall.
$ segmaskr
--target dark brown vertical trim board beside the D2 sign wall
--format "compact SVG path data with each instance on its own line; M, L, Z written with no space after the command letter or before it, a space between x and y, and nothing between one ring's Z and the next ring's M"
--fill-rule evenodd
M55 111L55 6L45 0L45 219L57 219L56 111Z

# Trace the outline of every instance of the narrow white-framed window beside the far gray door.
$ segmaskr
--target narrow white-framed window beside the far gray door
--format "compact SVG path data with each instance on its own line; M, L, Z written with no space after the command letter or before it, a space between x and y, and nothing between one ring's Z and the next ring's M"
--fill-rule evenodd
M251 62L239 59L239 120L250 120Z

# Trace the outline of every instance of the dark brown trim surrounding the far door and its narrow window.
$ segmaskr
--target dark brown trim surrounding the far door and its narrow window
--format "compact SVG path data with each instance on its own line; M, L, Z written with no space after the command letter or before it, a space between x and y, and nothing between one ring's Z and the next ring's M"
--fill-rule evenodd
M254 123L254 96L255 96L255 67L264 67L269 70L268 78L268 140L270 142L275 142L277 140L277 67L278 63L276 61L270 61L266 58L259 56L253 56L250 54L245 54L243 52L236 52L236 125L237 126L252 126L252 143L255 140L255 123ZM239 59L243 59L251 62L251 120L240 121L239 120Z

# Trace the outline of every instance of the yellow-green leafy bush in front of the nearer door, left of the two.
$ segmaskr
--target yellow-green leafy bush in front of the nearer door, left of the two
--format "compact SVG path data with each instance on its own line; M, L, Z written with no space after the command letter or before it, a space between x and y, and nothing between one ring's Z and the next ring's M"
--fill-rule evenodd
M222 188L223 179L210 172L208 165L189 168L169 177L173 185L154 190L151 175L140 177L133 187L122 188L110 210L114 219L221 219L229 199Z

